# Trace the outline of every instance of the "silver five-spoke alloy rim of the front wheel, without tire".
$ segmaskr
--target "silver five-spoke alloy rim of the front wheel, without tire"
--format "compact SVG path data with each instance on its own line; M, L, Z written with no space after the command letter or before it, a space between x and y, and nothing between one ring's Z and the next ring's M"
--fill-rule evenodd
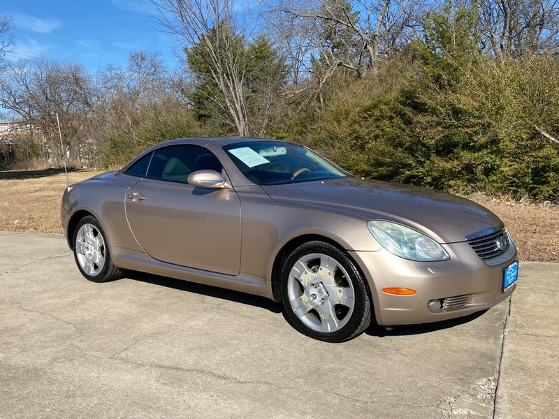
M337 260L322 253L303 256L289 272L287 295L291 309L308 328L335 332L354 311L355 292Z

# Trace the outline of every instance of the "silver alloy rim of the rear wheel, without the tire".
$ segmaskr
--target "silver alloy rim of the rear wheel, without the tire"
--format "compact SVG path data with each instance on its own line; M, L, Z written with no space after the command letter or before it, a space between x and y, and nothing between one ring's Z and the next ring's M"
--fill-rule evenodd
M86 223L75 237L75 255L83 272L91 277L105 266L105 240L96 226Z

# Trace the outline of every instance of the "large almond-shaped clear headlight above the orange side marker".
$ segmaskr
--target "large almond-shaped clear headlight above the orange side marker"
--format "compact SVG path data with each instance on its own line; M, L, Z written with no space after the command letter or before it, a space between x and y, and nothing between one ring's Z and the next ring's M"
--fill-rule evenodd
M375 239L400 258L417 261L447 260L449 253L431 237L389 221L369 221L367 226Z

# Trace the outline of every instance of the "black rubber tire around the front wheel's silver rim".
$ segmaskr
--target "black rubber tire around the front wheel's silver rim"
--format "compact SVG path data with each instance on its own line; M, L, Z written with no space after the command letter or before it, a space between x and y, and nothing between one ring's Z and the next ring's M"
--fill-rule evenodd
M288 281L289 275L300 258L304 258L312 253L322 253L326 256L330 256L339 263L344 270L347 272L347 281L351 281L354 291L354 308L351 315L349 315L349 320L340 329L333 332L319 332L314 330L309 326L305 325L303 321L295 314L293 308L291 307L291 302L289 301L288 293ZM355 263L347 256L346 253L337 249L333 245L313 241L302 244L300 247L295 249L291 255L286 258L284 266L282 267L281 274L281 291L282 291L282 302L287 318L293 324L293 326L303 335L312 337L314 339L319 339L321 341L328 342L342 342L360 335L371 323L371 301L368 293L367 285L365 280L356 267ZM320 319L319 319L320 321Z

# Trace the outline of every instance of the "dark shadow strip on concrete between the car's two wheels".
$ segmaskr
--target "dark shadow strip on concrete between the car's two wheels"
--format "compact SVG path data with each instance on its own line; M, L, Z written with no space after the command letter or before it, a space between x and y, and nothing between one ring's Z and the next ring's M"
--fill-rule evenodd
M224 288L217 288L215 286L196 284L196 282L182 281L182 279L175 279L170 277L160 277L159 275L147 274L144 272L126 271L126 278L135 281L147 282L149 284L166 286L175 290L187 291L189 293L196 293L200 295L207 295L208 297L220 298L240 304L249 304L254 307L260 307L272 311L273 313L280 313L282 311L282 304L265 297L258 295L251 295L240 293L239 291L226 290Z

